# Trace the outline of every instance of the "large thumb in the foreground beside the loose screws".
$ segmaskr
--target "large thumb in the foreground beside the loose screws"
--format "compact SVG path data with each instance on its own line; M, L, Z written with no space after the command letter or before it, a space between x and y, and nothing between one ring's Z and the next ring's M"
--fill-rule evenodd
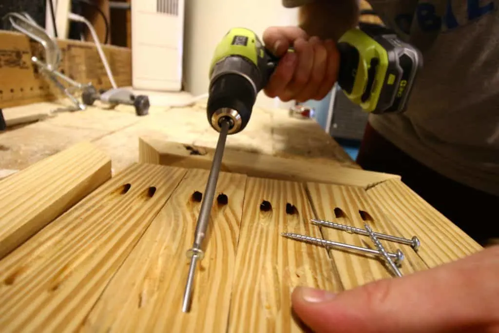
M293 310L314 332L479 332L499 323L498 249L337 295L298 287ZM482 331L481 331L482 332Z

